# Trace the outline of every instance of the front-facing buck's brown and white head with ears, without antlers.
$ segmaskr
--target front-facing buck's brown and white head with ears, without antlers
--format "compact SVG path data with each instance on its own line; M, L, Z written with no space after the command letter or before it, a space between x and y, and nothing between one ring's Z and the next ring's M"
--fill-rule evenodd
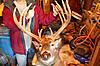
M57 38L52 41L51 38L45 36L42 38L41 43L33 41L35 46L37 46L37 58L44 65L51 65L55 63L55 58L58 55L59 46L61 44L61 38ZM36 45L37 44L37 45Z

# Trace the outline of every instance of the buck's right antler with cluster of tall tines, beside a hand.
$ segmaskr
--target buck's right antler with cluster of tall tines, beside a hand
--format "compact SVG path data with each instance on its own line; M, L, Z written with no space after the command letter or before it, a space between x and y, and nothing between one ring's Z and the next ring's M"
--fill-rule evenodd
M55 34L52 35L53 40L64 30L64 28L69 24L69 22L71 20L71 10L70 10L69 4L68 4L68 0L66 0L65 4L64 4L64 1L62 0L63 9L57 3L57 1L55 1L55 2L56 2L56 6L55 5L53 5L53 6L55 7L56 11L58 12L58 15L62 22L62 26Z

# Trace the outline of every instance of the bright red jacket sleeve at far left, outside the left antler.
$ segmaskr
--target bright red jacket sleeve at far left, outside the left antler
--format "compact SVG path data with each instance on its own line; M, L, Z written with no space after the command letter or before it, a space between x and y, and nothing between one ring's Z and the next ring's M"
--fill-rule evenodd
M7 7L3 10L3 24L10 30L18 30L13 20L13 14Z

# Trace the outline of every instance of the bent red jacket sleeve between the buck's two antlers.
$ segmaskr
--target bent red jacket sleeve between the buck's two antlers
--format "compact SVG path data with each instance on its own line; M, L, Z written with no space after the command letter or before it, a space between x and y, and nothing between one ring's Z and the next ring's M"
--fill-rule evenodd
M37 15L39 18L39 24L42 25L49 25L53 20L55 20L55 17L53 16L53 12L50 12L49 14L44 14L44 11L42 8L40 8L38 5L35 7L35 13L34 15Z

